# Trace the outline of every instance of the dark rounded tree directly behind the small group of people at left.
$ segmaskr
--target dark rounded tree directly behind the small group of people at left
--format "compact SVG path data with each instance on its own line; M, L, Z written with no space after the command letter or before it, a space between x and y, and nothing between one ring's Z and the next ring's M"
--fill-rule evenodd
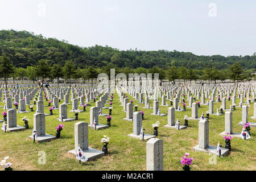
M50 76L51 73L51 65L49 65L49 60L41 59L36 64L36 75L42 80Z

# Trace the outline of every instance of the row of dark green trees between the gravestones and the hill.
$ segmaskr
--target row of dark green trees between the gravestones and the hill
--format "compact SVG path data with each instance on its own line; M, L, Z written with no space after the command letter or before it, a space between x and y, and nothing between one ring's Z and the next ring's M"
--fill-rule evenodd
M74 82L79 82L80 79L85 81L97 78L98 74L100 73L106 73L110 78L111 67L94 68L89 66L88 68L76 68L72 60L66 60L64 63L64 66L61 66L60 64L52 63L50 60L41 59L34 66L28 66L27 68L16 68L14 67L13 61L10 59L10 57L3 53L2 56L0 56L0 77L4 79L6 84L9 78L15 79L17 77L19 77L21 80L27 77L34 82L39 79L49 79L52 81L53 79L57 78L58 83L60 78L64 78L67 82L71 83L71 79ZM115 76L118 73L125 73L127 78L129 77L129 73L152 73L152 77L154 77L154 73L159 73L160 80L183 80L184 84L186 84L188 81L191 82L192 80L207 80L210 82L231 79L236 82L245 79L251 80L253 77L255 78L255 75L253 74L254 71L252 69L244 70L239 63L234 63L233 65L230 65L228 69L221 70L217 69L216 67L209 66L201 70L185 68L183 66L179 68L172 66L168 67L166 70L157 67L152 67L150 69L132 69L125 67L116 68Z

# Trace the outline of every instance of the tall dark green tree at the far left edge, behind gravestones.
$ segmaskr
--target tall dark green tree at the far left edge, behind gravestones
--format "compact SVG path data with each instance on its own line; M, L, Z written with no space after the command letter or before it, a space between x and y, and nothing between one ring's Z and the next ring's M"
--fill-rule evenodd
M6 56L5 53L2 53L0 58L0 76L5 81L5 88L7 89L7 80L14 73L13 61L10 60L10 57Z

